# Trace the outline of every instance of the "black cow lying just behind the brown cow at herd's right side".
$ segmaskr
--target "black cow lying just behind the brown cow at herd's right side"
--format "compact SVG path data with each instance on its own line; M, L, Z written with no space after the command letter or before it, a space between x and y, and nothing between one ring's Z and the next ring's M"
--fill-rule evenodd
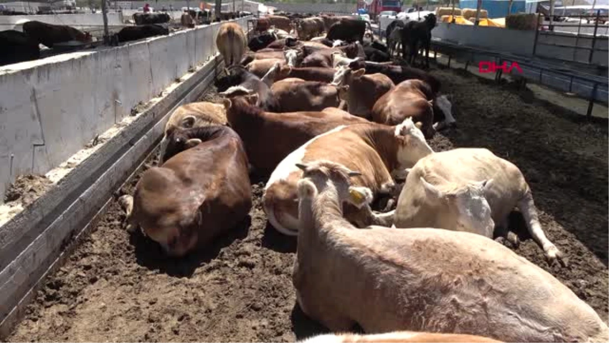
M426 71L418 68L411 68L403 65L386 65L362 60L351 62L349 68L352 70L365 68L366 74L385 74L394 84L399 84L402 81L410 79L420 79L429 84L434 94L440 92L440 81Z

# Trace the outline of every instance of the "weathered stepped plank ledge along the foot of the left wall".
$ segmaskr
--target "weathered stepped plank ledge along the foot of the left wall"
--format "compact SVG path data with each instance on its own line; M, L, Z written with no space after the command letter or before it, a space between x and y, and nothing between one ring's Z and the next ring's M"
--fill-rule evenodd
M72 193L77 194L64 193L65 198L61 199L57 198L57 194L49 195L49 192L41 197L52 196L67 204L45 209L49 214L41 218L50 222L49 225L40 228L41 233L30 240L23 251L17 252L16 258L0 272L0 338L10 333L46 275L60 265L62 251L74 244L74 237L82 233L91 218L104 208L114 190L158 143L172 110L194 101L213 81L219 60L219 57L211 59L205 67L113 137L107 145L113 146L115 153L100 148L81 164L90 167L88 173L83 168L79 168L80 173L69 173L62 183L66 189L72 189ZM49 200L42 203L48 204ZM54 218L48 218L51 214ZM21 241L28 236L31 233L23 235ZM19 248L20 245L13 241L12 247Z

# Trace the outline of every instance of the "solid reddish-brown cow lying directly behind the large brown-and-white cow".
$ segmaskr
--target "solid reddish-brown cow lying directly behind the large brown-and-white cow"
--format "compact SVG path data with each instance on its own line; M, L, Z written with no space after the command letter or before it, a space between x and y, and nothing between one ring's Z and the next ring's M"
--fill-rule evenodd
M366 120L334 109L322 112L264 112L255 106L256 95L224 100L231 128L243 139L250 164L269 175L289 153L316 135L339 125Z

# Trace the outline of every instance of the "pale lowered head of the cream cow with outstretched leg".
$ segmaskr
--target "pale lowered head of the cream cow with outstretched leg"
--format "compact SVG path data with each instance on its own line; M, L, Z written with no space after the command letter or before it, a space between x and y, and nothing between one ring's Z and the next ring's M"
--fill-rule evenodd
M434 186L421 176L421 184L426 200L436 206L445 206L447 216L456 225L456 231L484 233L492 237L495 222L491 217L491 208L486 194L489 192L492 179L481 182L470 182L462 187L451 187L452 184Z

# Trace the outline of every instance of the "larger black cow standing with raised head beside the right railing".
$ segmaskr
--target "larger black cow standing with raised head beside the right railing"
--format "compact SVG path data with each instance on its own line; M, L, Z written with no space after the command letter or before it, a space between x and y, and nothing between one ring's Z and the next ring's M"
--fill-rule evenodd
M429 47L431 46L431 31L436 24L434 13L429 13L425 16L424 21L409 21L401 29L402 41L402 56L406 57L406 46L408 46L409 55L407 62L414 65L418 49L425 50L425 66L429 68Z

